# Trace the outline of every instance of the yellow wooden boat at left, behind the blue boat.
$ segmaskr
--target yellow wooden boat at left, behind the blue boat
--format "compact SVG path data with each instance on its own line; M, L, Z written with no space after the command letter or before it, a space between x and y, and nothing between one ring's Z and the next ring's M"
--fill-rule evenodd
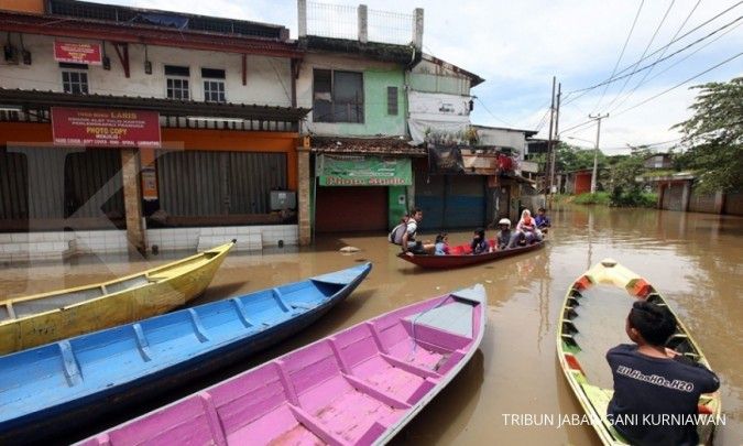
M234 240L138 274L0 303L0 355L165 313L198 296Z

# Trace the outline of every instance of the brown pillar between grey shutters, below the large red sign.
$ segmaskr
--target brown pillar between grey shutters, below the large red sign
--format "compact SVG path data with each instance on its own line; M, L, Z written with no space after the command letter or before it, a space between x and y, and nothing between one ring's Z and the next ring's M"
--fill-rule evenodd
M144 253L147 242L142 222L142 188L140 184L140 156L134 149L121 150L121 181L124 193L127 239L129 251Z

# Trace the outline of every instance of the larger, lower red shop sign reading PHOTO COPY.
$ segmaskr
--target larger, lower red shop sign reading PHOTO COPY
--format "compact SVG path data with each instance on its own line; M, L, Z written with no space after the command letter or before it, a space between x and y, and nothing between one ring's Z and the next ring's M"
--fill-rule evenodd
M160 148L160 113L52 107L54 143L109 148Z

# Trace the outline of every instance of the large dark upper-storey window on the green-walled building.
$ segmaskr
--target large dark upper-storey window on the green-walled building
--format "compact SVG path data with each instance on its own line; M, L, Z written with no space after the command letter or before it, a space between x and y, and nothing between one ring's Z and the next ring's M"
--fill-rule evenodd
M363 74L315 69L313 121L363 122Z

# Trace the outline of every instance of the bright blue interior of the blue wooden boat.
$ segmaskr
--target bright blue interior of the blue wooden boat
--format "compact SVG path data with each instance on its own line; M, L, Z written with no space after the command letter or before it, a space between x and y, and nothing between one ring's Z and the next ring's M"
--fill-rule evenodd
M0 390L11 401L33 396L51 404L68 398L57 389L85 393L106 387L111 381L112 363L121 370L121 379L154 372L184 352L196 355L315 308L342 289L342 284L309 280L47 344L12 358L0 357L6 379ZM19 360L19 355L28 360ZM19 384L30 380L39 384L34 395ZM80 385L83 382L85 385Z

